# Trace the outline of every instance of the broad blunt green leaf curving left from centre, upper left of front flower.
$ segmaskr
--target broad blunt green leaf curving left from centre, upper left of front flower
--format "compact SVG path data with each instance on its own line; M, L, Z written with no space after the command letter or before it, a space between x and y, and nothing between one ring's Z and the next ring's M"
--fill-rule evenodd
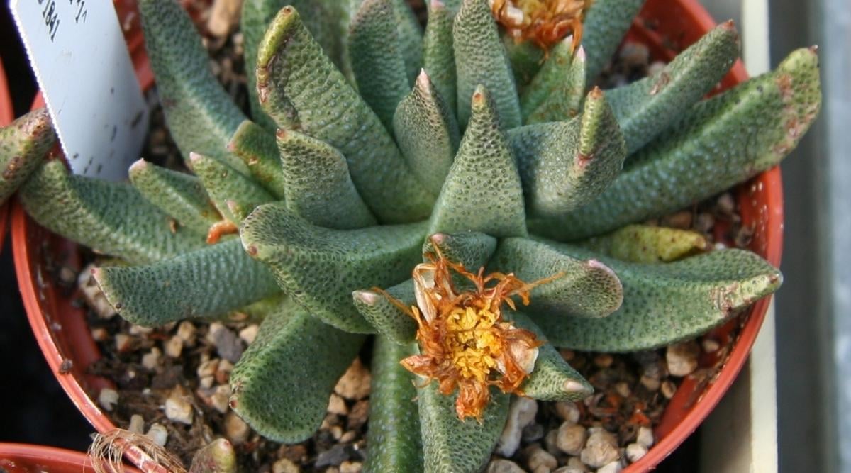
M257 208L240 234L248 254L271 267L278 285L311 314L342 330L372 333L351 292L386 288L410 276L425 222L331 230L311 225L281 202Z

